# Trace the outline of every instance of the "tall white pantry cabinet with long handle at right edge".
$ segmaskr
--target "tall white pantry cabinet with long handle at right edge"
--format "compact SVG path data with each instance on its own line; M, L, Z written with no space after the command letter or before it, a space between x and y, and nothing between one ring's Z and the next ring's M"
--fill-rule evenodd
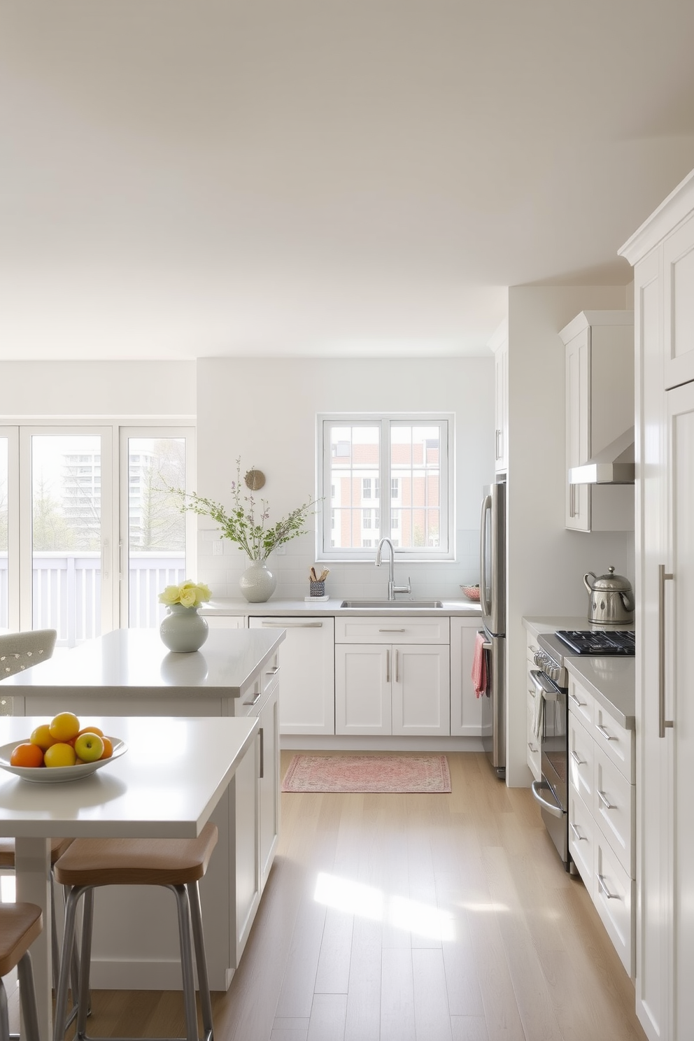
M694 171L620 250L636 338L637 1013L694 1023Z

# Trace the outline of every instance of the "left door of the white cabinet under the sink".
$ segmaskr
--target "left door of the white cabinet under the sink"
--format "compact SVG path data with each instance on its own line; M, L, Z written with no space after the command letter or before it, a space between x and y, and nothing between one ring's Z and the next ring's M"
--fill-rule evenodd
M390 645L335 645L335 733L390 734Z

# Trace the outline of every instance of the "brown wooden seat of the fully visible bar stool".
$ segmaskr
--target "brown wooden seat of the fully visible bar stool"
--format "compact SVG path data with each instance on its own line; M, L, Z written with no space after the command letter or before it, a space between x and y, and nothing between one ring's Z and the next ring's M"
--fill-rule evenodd
M197 839L75 839L54 868L63 886L185 886L203 878L216 828Z

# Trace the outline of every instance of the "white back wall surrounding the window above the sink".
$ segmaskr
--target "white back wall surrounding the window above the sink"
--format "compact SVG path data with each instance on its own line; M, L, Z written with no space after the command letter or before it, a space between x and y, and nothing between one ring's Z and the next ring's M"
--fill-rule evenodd
M198 487L231 504L235 459L241 474L265 474L262 489L271 520L279 519L315 490L318 412L442 411L456 416L455 563L395 565L396 581L409 574L417 596L459 598L460 584L479 579L479 510L493 476L493 358L276 359L206 358L198 363ZM259 498L257 496L256 498ZM311 518L311 527L315 518ZM200 519L198 573L214 595L238 598L245 555L223 540L212 556L214 526ZM315 557L311 533L273 554L275 599L308 594ZM385 595L387 572L367 563L330 563L331 596ZM271 601L272 604L272 601Z

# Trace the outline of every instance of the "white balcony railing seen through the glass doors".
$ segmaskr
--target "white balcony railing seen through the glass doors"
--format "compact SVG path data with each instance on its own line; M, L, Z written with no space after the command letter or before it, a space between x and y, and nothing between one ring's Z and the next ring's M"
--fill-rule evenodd
M158 594L185 581L183 553L131 553L129 618L154 628L164 615ZM75 646L101 633L101 557L98 553L34 553L33 628L57 630L57 644ZM8 626L7 557L0 555L0 628Z

